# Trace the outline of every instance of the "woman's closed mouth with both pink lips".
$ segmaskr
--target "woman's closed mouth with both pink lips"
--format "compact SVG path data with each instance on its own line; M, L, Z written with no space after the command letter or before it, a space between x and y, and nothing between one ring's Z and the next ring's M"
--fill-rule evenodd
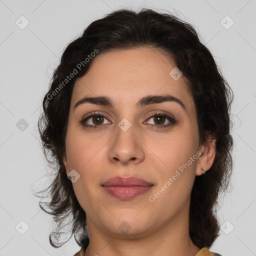
M113 177L101 185L109 195L129 200L147 192L153 184L137 177Z

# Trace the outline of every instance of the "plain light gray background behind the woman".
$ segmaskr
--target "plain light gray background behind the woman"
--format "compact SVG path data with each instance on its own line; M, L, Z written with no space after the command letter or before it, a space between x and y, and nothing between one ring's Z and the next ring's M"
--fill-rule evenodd
M48 242L51 216L32 194L49 182L36 123L63 49L90 22L126 6L171 11L194 25L232 87L232 190L220 203L222 228L210 250L256 255L255 0L0 0L0 255L73 255L79 250L73 238L58 249ZM15 23L25 24L22 15L29 21L24 29ZM222 25L231 24L223 19L227 15L234 21L228 29ZM28 123L23 130L21 118ZM20 221L29 226L24 234Z

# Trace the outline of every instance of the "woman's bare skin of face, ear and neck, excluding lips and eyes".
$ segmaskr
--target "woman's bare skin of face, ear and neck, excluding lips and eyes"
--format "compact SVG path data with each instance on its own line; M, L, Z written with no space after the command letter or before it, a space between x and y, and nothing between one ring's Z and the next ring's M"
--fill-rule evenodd
M208 139L199 146L194 101L185 77L174 80L169 75L173 67L175 64L156 48L112 50L97 55L89 71L75 82L63 162L66 174L75 169L80 175L72 185L87 217L90 243L85 256L194 256L200 250L188 232L190 192L195 176L202 174L201 168L208 170L213 163L215 140ZM171 94L186 110L174 101L137 108L136 102L149 94ZM102 95L110 97L114 107L87 102L74 109L82 97ZM162 123L149 114L160 110L177 123L157 128ZM79 120L93 111L107 118L98 128L83 127ZM131 123L126 131L118 126L123 118ZM92 118L86 122L98 124ZM149 196L196 151L200 156L150 202ZM130 200L121 200L101 186L113 176L140 177L153 187ZM118 228L123 221L130 227L126 233Z

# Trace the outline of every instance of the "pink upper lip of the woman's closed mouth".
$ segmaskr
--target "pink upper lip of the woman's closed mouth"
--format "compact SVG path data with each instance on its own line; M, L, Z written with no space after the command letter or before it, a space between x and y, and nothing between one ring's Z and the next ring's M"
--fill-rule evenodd
M109 178L106 181L104 181L104 183L102 185L103 186L150 186L153 184L145 181L142 178L138 178L138 177L115 176L115 177Z

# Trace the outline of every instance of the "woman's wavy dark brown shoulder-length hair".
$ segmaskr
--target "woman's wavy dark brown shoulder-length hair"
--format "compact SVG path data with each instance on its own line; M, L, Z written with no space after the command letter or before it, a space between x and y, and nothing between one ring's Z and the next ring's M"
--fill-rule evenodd
M205 174L195 177L191 190L189 235L200 248L209 247L218 236L217 199L220 192L227 189L232 170L233 140L229 118L232 90L192 25L170 13L120 9L93 21L80 37L67 45L43 98L38 129L44 155L54 170L54 180L43 190L47 190L50 201L40 201L39 205L52 214L56 224L49 235L54 247L68 241L72 234L79 245L81 237L87 236L86 214L76 199L62 162L74 83L89 70L93 56L96 58L109 50L139 46L162 50L171 57L187 79L195 102L200 145L209 136L216 139L214 162ZM92 54L96 51L97 54ZM90 60L85 60L86 56ZM65 80L74 68L77 73ZM69 222L66 222L68 218ZM69 239L60 243L64 227L70 227L71 233Z

